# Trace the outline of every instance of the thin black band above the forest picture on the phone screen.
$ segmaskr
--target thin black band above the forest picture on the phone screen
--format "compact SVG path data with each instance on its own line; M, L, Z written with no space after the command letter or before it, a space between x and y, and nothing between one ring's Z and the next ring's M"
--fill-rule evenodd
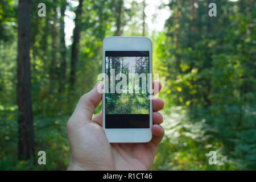
M106 57L148 57L149 51L106 51Z

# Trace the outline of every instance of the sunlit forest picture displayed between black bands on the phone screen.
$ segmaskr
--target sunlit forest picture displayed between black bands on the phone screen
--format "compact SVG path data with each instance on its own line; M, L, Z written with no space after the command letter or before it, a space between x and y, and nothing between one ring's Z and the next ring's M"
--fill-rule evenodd
M106 84L109 91L114 90L106 92L106 114L149 114L148 90L143 92L143 84L148 88L148 70L148 57L106 57ZM127 85L121 85L122 92L118 93L116 86L124 79Z

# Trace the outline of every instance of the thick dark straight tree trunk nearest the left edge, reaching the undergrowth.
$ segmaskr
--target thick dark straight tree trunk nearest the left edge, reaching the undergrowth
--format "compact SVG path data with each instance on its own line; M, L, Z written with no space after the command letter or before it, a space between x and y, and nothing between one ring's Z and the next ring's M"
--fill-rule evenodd
M34 158L34 127L30 80L30 1L19 0L18 7L18 158Z

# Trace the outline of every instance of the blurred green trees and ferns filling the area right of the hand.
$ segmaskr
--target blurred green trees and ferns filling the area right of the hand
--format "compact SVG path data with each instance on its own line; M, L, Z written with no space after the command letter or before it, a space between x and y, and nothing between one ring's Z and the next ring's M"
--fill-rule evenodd
M156 38L156 71L165 78L163 98L168 98L165 110L172 113L170 106L181 106L186 113L185 119L179 114L170 121L179 124L163 140L157 169L256 168L255 5L215 3L217 18L204 16L207 1L193 8L189 1L170 3L167 34ZM162 156L167 148L171 151ZM204 156L211 150L217 151L217 166Z

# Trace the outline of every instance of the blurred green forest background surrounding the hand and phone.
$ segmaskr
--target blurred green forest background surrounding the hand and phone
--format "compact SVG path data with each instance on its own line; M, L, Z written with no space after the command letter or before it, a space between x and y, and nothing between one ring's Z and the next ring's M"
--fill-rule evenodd
M254 0L46 0L45 17L38 16L40 2L30 1L30 80L34 158L46 151L47 164L18 159L19 2L2 0L0 169L67 169L65 124L101 73L102 40L120 35L153 42L166 104L153 170L256 169ZM208 16L211 2L217 17ZM217 152L216 165L209 164L209 151Z

